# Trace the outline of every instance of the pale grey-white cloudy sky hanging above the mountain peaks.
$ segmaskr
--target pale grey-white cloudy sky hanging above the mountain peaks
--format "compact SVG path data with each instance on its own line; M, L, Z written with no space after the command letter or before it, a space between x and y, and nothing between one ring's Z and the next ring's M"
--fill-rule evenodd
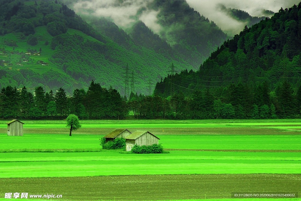
M66 0L68 1L68 0ZM131 27L136 20L143 21L155 33L160 33L160 25L157 23L157 11L144 10L137 17L137 12L153 0L79 0L73 5L73 9L79 13L93 13L95 16L111 18L115 24L123 29ZM201 15L214 21L225 33L233 36L239 33L245 23L238 22L226 16L220 10L220 4L227 8L236 8L247 11L251 16L261 17L263 9L278 12L279 9L292 7L300 0L186 0L188 4ZM70 2L70 1L69 1ZM119 4L119 3L118 3Z

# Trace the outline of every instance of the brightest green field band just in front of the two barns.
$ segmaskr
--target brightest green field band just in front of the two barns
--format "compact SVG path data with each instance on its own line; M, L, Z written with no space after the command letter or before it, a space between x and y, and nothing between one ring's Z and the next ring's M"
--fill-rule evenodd
M295 152L197 152L121 154L0 153L0 177L78 177L151 174L301 174Z

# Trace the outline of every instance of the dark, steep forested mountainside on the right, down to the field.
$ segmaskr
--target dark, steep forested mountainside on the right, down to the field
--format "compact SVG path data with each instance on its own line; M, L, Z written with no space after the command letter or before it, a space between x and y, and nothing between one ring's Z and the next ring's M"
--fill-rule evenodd
M231 111L227 118L261 118L261 113L262 118L299 118L300 27L301 3L281 8L225 41L197 72L181 71L162 79L154 93L172 96L178 104L198 100L199 108L206 102L211 109L202 118L219 113L220 105Z

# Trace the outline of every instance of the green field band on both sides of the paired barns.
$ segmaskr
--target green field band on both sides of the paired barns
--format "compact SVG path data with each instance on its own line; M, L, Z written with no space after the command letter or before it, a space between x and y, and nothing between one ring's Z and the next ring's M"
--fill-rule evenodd
M157 135L165 149L300 150L301 135ZM103 135L0 134L0 152L9 149L100 149Z

